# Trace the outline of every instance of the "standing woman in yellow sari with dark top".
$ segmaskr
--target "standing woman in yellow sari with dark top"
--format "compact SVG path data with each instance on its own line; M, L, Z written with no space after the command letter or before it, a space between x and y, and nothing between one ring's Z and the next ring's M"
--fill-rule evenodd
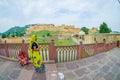
M39 53L39 46L37 43L37 36L32 35L30 39L30 59L35 67L36 72L40 72L44 69L43 60Z

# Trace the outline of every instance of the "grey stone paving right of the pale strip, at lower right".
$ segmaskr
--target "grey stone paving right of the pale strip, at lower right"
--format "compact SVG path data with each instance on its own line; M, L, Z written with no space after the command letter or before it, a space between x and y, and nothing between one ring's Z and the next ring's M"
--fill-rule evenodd
M120 80L120 48L98 55L57 64L65 80Z

